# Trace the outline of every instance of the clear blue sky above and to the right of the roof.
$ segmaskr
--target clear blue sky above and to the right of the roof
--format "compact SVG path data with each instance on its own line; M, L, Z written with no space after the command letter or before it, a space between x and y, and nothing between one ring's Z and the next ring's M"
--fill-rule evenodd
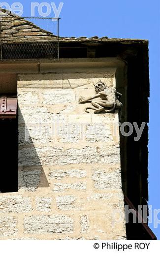
M12 4L13 0L7 0ZM23 16L31 16L31 2L20 0ZM46 2L46 0L37 0ZM59 6L60 1L55 2ZM97 35L149 40L150 124L149 124L149 204L160 209L160 1L159 0L62 0L61 36ZM45 11L46 9L44 9ZM35 12L36 16L38 12ZM50 17L54 17L52 10ZM158 111L158 113L157 113ZM160 219L160 213L158 215ZM159 224L160 226L160 224ZM160 227L150 227L160 239Z

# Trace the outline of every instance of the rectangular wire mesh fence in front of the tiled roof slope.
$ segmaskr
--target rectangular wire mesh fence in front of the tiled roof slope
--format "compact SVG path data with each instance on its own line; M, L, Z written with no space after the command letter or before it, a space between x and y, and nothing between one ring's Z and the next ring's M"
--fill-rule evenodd
M59 18L1 18L0 57L1 61L59 60Z

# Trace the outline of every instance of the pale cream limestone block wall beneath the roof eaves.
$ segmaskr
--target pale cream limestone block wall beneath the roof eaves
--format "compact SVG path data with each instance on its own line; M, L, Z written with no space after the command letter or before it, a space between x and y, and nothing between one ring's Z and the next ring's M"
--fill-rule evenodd
M18 76L19 192L0 194L0 239L125 239L118 113L78 104L115 71Z

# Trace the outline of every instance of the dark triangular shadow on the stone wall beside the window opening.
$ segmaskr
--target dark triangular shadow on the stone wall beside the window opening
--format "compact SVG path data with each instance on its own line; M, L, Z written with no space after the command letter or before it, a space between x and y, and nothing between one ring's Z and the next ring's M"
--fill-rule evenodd
M32 120L32 118L31 118ZM18 188L27 189L28 191L35 191L37 188L47 188L49 183L46 178L43 166L39 160L37 151L34 147L35 141L32 141L30 130L25 124L25 120L18 109L19 122L19 154L18 154ZM36 126L32 127L36 129ZM36 134L36 130L35 130ZM35 136L34 136L35 138Z

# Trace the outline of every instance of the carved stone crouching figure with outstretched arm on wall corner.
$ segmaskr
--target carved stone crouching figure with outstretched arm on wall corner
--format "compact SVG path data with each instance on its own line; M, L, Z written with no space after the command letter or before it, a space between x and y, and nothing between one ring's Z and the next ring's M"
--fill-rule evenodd
M101 80L94 86L96 95L87 98L81 96L79 98L79 103L85 103L92 100L91 103L93 107L85 108L87 113L89 113L88 109L95 110L95 114L100 112L111 113L115 109L120 109L122 107L122 103L119 101L122 94L118 93L115 88L108 88Z

